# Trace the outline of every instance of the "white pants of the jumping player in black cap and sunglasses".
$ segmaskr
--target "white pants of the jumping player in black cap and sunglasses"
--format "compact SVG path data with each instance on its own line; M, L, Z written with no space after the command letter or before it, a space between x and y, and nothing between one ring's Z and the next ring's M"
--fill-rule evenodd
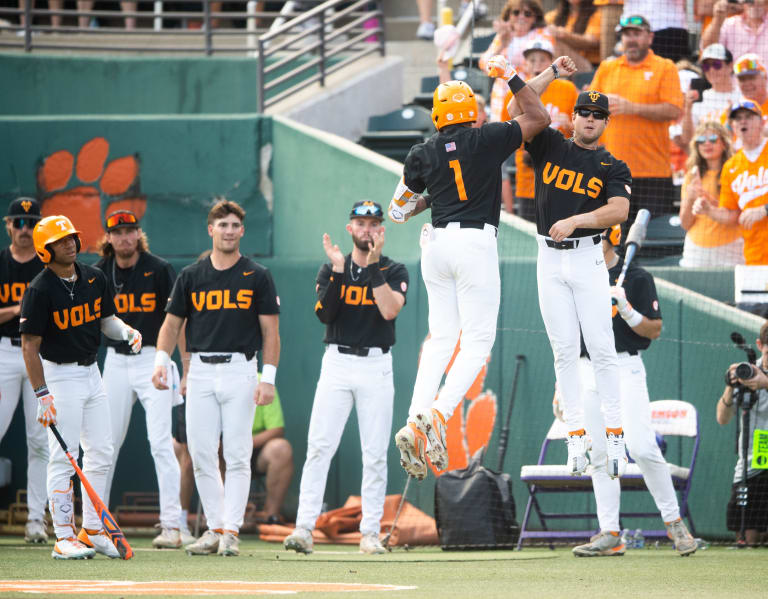
M555 376L568 430L584 428L578 367L582 334L592 358L605 425L619 428L619 363L602 246L591 237L580 238L579 247L570 250L549 247L541 235L537 241L539 309L555 357Z

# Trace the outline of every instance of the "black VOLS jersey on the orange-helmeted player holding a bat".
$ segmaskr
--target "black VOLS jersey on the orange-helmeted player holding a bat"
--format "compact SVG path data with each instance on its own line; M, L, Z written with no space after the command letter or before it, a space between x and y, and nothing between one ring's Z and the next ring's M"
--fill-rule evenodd
M77 280L69 283L46 268L27 287L19 328L43 338L40 355L70 363L96 357L101 319L115 313L112 291L99 269L75 263Z

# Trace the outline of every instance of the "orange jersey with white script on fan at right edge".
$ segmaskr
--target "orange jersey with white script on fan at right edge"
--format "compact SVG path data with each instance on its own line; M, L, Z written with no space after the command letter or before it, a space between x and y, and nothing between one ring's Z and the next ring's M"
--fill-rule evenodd
M742 211L768 204L768 142L757 160L751 162L739 150L723 165L720 173L720 206ZM768 264L768 218L741 228L744 236L744 261L746 264Z

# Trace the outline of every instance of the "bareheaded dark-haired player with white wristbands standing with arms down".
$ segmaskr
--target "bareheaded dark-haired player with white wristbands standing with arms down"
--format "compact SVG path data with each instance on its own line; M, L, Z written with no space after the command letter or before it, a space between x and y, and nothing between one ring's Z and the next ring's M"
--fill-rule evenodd
M213 251L179 274L157 339L152 381L167 389L170 353L187 319L186 350L191 356L186 434L208 522L208 530L186 547L190 555L240 555L238 533L251 485L253 413L257 404L268 405L275 395L280 299L269 271L240 254L244 219L245 211L235 202L222 200L211 208ZM220 439L227 466L224 482Z

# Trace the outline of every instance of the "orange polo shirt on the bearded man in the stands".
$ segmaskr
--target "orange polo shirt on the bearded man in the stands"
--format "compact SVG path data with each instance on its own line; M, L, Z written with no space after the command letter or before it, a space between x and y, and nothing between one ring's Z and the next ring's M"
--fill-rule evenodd
M626 57L605 60L595 73L591 89L617 94L639 104L668 103L682 109L683 92L675 64L648 50L636 65ZM601 142L627 163L632 177L669 177L669 121L652 121L629 114L612 114Z

